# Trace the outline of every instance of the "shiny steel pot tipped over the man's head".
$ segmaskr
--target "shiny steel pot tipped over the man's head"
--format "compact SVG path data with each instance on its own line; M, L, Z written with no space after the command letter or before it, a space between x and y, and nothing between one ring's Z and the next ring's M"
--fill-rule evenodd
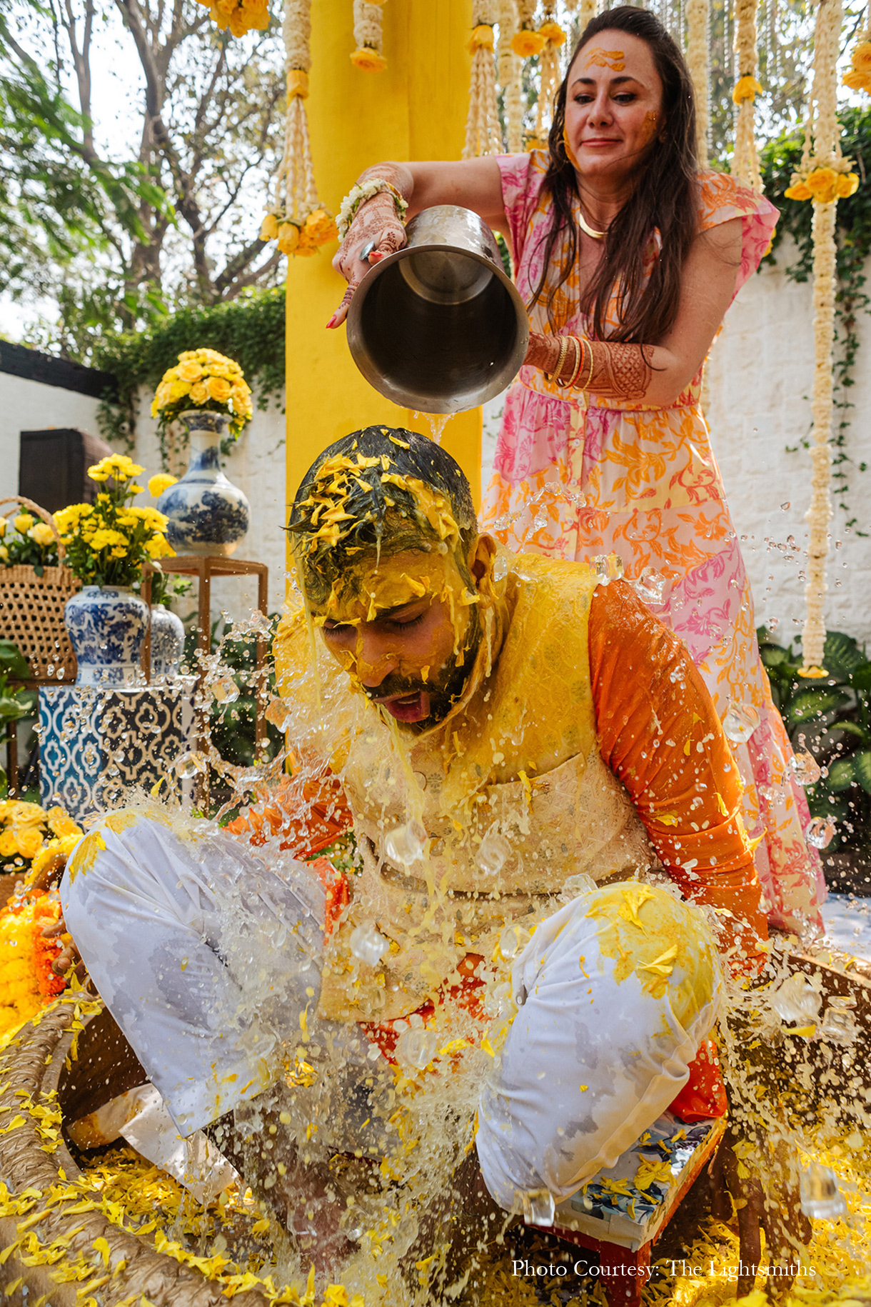
M487 223L456 204L411 218L406 244L351 299L347 342L404 408L462 413L499 395L526 357L529 316Z

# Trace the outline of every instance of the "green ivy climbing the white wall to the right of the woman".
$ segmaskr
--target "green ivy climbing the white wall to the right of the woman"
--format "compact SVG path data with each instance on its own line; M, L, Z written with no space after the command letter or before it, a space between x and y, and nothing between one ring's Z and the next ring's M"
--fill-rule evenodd
M838 409L832 444L832 480L838 506L847 515L847 527L857 529L857 518L850 516L849 493L851 472L864 472L867 464L855 464L846 450L846 433L850 425L850 387L855 384L855 367L859 352L858 323L863 312L871 308L871 297L866 291L866 260L871 254L871 110L846 108L838 115L842 128L841 148L844 154L855 161L859 174L859 190L849 200L838 201L837 210L837 272L838 289L836 297L836 396ZM761 171L765 195L781 210L777 233L767 263L773 263L778 246L786 234L795 240L795 260L786 268L793 281L810 281L814 272L814 240L811 222L814 205L804 200L787 200L784 191L790 184L790 176L802 158L803 133L780 136L764 146ZM806 442L808 443L808 442ZM853 464L853 467L850 467ZM867 535L858 531L858 535Z

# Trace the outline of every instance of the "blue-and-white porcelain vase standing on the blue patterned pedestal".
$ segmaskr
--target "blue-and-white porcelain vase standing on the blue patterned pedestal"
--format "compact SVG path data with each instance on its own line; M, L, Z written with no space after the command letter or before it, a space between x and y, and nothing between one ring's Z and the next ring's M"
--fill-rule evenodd
M141 685L148 618L145 600L124 586L82 586L68 599L64 625L78 659L76 685Z

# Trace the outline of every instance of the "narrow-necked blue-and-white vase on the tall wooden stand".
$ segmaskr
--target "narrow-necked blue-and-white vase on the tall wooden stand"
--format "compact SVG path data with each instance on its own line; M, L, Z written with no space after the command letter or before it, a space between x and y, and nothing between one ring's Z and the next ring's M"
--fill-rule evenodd
M251 506L221 471L221 435L230 418L208 409L180 417L191 437L191 460L157 502L170 519L166 537L176 554L231 554L248 531Z

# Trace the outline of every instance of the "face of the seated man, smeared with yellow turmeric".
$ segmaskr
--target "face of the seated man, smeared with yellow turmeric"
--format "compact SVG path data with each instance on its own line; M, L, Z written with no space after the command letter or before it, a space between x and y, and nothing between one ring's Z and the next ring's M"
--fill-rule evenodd
M462 693L479 597L453 552L434 546L367 555L311 612L351 681L397 721L420 728L444 718Z

